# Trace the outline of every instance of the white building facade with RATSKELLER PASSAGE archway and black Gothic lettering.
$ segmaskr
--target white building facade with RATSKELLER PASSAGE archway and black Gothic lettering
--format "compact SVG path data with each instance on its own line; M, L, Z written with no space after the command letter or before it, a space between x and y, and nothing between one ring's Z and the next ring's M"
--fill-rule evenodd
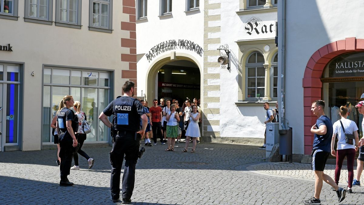
M205 140L262 144L263 103L274 109L278 93L277 2L137 0L136 7L138 96L150 106L154 98L180 106L200 98ZM224 45L229 69L217 62Z

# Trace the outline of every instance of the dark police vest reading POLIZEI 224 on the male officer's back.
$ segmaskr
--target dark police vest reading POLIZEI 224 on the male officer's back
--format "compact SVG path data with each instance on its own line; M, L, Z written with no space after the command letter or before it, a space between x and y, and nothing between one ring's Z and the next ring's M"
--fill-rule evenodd
M115 131L139 131L140 115L134 105L135 100L137 99L131 97L118 97L115 99L112 108L114 111L112 124Z

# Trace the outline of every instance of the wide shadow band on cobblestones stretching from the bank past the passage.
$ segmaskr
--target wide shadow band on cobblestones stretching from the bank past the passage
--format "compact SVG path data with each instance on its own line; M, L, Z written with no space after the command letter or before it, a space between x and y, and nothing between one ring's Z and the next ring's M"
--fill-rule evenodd
M146 152L138 159L137 169L235 170L236 166L252 161L265 162L265 150L259 150L258 146L200 143L194 153L190 152L191 144L188 147L189 152L182 152L184 147L185 143L176 144L176 151L165 151L167 145L161 144L145 147ZM95 159L94 167L88 171L110 172L111 147L86 147L83 150ZM0 163L56 166L55 161L56 150L0 152ZM81 170L88 167L87 160L80 155L79 164Z

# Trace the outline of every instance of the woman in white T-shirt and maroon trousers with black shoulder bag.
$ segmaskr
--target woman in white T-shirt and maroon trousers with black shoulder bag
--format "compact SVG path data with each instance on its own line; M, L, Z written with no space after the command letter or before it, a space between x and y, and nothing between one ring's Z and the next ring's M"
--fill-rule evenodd
M352 193L351 187L354 178L354 159L355 152L357 151L357 144L359 143L358 127L355 122L347 119L348 109L344 106L340 107L341 120L336 121L333 124L333 135L331 139L331 155L336 156L336 168L335 168L335 183L339 184L340 171L343 166L345 156L347 157L348 166L348 193ZM341 125L342 123L342 125ZM344 127L344 129L343 129ZM345 133L344 133L345 130ZM334 150L335 138L337 134L337 153ZM353 134L355 136L355 142L353 144L346 143L345 134Z

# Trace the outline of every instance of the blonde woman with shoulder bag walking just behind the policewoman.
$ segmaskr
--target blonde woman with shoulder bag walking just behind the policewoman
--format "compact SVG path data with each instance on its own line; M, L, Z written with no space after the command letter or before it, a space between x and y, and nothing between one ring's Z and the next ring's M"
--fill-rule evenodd
M78 131L76 132L75 136L80 143L80 147L78 148L78 151L75 152L75 155L73 156L73 160L75 161L75 166L71 167L72 170L80 170L80 167L78 165L78 154L83 156L87 159L88 162L88 169L91 169L92 166L94 166L94 159L90 158L86 152L81 150L83 142L86 140L86 133L83 131L83 125L87 122L86 121L86 115L84 112L81 111L81 103L79 101L75 101L73 104L73 109L76 111L75 115L78 117Z

